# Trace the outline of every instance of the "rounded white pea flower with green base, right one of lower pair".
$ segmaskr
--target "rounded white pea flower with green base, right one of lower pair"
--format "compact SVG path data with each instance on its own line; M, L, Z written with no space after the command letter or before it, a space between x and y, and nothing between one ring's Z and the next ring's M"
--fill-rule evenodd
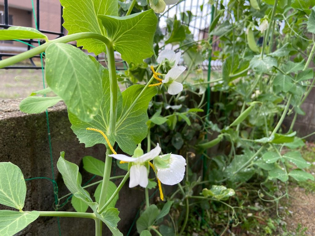
M180 155L166 154L153 160L157 168L157 178L161 183L174 185L180 183L185 175L186 160Z

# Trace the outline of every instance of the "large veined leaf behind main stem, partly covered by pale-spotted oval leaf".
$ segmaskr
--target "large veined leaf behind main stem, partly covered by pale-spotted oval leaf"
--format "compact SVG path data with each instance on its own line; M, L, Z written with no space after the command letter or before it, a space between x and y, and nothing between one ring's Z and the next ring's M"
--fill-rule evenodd
M71 111L68 111L69 120L72 124L71 129L77 135L80 143L85 143L85 147L92 147L97 143L103 143L107 146L106 140L104 137L95 131L87 131L86 128L97 128L106 133L107 138L113 144L114 139L108 133L109 127L109 115L110 115L110 87L109 87L109 75L108 70L105 69L99 62L95 61L94 63L99 70L99 74L102 78L102 88L103 88L103 97L100 104L100 109L98 110L97 115L94 116L93 120L89 123L80 120L76 115ZM117 116L121 115L123 98L119 88L117 88L118 101L117 101Z

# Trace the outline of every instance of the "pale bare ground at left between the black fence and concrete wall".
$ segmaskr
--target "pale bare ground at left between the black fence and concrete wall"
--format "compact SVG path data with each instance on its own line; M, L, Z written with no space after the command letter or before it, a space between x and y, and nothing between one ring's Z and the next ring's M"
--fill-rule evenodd
M40 89L43 89L42 70L0 70L0 99L26 98Z

